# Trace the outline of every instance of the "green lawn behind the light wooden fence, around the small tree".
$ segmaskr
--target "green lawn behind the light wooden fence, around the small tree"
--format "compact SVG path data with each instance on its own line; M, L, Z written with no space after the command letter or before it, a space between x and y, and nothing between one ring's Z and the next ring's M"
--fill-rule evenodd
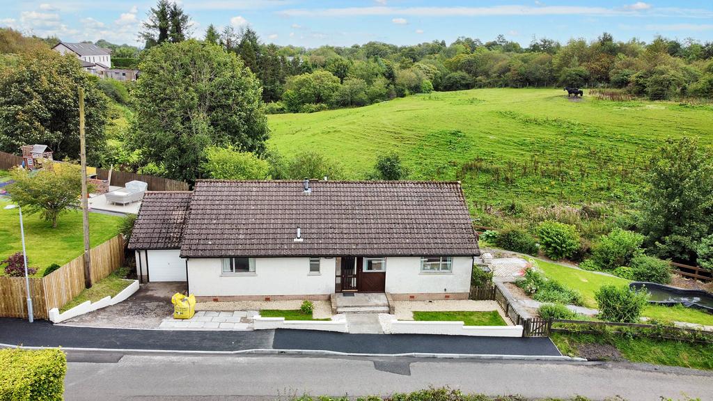
M9 203L6 197L0 198L0 260L21 252L20 219L17 209L5 210ZM36 276L52 263L63 265L81 255L84 250L82 238L82 213L69 210L60 216L57 227L43 221L39 214L23 214L27 262L30 267L38 268ZM113 215L89 213L89 235L94 247L112 238L118 233L122 218ZM0 269L0 275L4 271Z

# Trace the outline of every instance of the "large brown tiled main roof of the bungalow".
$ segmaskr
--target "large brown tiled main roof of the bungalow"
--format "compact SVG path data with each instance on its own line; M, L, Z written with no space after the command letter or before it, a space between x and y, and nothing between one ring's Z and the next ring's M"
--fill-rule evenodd
M198 181L181 256L480 254L460 183L310 186L308 195L302 181Z

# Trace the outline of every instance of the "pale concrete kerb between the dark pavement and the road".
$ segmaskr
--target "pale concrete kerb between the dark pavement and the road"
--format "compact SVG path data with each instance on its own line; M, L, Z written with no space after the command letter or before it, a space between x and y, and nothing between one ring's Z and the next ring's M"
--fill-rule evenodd
M399 354L369 354L354 352L338 352L329 350L272 350L267 348L255 348L252 350L237 351L196 351L196 350L128 350L124 348L77 348L77 347L24 347L22 345L9 345L0 343L0 348L19 348L22 350L44 350L58 349L65 352L99 352L99 353L120 353L125 355L304 355L304 356L341 356L341 357L414 357L414 358L434 358L434 359L458 359L458 360L511 360L511 361L540 361L540 362L588 362L580 357L568 357L565 355L496 355L496 354L438 354L422 352L404 352Z

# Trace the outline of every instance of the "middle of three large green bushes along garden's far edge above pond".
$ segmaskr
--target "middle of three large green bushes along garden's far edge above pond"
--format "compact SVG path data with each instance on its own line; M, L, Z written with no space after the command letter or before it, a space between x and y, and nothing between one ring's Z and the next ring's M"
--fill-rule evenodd
M602 235L592 248L592 260L602 269L612 270L628 266L632 258L642 253L644 236L633 231L615 228Z

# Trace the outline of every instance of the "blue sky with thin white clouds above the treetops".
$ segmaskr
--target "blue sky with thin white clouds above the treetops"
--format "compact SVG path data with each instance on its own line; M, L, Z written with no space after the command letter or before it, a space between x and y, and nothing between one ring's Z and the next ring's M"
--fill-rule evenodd
M713 41L713 1L561 0L183 0L193 36L209 24L249 24L263 41L280 45L350 46L367 41L416 44L498 34L526 45L533 36L566 41L670 38ZM155 1L0 0L0 26L63 41L107 39L139 44L136 34Z

